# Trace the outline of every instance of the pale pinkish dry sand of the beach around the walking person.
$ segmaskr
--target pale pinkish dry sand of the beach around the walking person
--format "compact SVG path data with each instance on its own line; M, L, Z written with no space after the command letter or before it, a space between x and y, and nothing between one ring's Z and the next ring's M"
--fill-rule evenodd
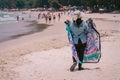
M63 15L46 29L0 43L0 80L120 80L120 14L84 14L101 34L102 58L70 72L72 53ZM44 20L37 21L45 23Z

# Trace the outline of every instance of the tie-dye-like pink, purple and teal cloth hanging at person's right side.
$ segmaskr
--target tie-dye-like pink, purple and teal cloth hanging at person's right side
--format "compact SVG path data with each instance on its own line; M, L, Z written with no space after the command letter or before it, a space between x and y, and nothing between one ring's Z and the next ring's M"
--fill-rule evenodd
M87 46L84 52L85 63L97 63L101 58L101 41L100 34L96 30L95 24L90 24L90 19L87 21L90 31L87 33Z

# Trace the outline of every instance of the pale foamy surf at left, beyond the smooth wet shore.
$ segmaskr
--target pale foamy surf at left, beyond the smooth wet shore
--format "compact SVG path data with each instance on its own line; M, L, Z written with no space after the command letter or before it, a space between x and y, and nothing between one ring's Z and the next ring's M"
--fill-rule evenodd
M25 14L22 12L18 12L18 13L0 12L0 24L15 22L17 21L17 16L19 16L19 20L22 20L22 18L24 18L24 20L27 21L37 19L37 15L35 14L31 14L31 18L30 18L29 14Z

